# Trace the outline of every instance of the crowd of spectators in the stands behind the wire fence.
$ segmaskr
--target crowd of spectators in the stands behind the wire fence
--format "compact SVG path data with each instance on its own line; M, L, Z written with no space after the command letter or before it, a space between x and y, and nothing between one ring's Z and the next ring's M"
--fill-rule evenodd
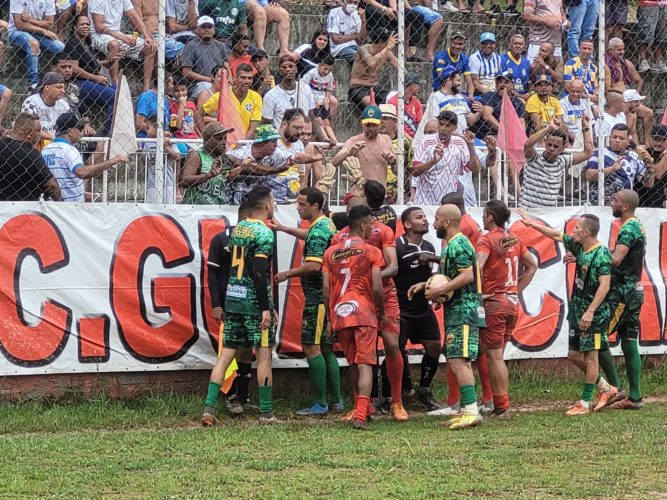
M23 176L12 174L12 185L24 177L32 188L9 195L5 185L3 199L43 194L83 201L84 181L127 160L102 161L103 143L83 147L80 139L111 133L121 67L130 59L140 62L143 86L134 117L139 138L156 137L158 107L164 109L170 199L238 204L263 183L279 203L291 203L300 187L323 181L333 168L344 170L352 190L378 182L388 203L396 202L400 189L407 201L420 204L438 204L455 191L466 205L475 205L479 176L489 180L487 194L503 190L524 206L557 206L577 196L596 203L598 160L604 158L606 201L620 189L635 188L642 203L663 206L667 126L655 123L642 94L648 72L667 73L667 0L639 2L637 64L626 58L623 40L627 1L607 2L604 96L593 40L598 2L526 0L521 13L514 3L503 12L494 1L488 11L477 0L468 6L446 2L440 9L426 0L406 2L406 60L431 63L432 78L405 75L402 123L397 89L383 78L399 63L396 1L332 5L326 26L310 43L291 49L290 14L280 2L166 0L168 73L165 100L158 103L157 0L79 1L62 11L51 0L11 0L0 30L7 29L9 44L23 54L31 95L0 146L24 155L16 165L35 165ZM521 15L529 35L515 33L501 42L490 23L478 39L454 31L443 40L446 15L439 10ZM270 24L278 41L275 72L265 50ZM475 49L466 53L466 46ZM52 54L48 68L44 52ZM347 95L338 92L337 59L350 66ZM41 78L40 69L46 71ZM0 85L0 120L12 98L12 90ZM361 133L342 145L336 135L341 101L361 116ZM517 119L505 133L527 137L526 163L518 168L497 161L507 106ZM104 118L91 122L91 110L99 109ZM32 129L35 120L38 131ZM154 158L154 142L140 144ZM324 149L332 150L330 162ZM400 187L399 156L406 167ZM0 154L0 163L7 164L2 176L9 175L11 161L11 155ZM155 172L148 170L147 190L155 186ZM568 188L567 179L578 187ZM155 199L154 191L146 196Z

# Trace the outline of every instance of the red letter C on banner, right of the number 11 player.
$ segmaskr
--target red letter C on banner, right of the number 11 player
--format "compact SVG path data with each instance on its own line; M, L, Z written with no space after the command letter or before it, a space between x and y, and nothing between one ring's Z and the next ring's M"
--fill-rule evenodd
M510 228L533 254L537 256L539 269L560 265L561 251L558 243L545 238L534 229L521 222L515 222ZM529 315L521 298L519 319L512 335L512 343L528 352L541 351L549 347L558 337L565 319L565 303L556 294L542 294L542 305L535 315Z

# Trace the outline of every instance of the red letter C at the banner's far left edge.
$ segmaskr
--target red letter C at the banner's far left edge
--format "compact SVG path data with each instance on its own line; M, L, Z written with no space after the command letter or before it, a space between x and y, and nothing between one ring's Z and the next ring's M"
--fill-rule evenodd
M44 366L62 352L69 336L72 312L47 300L40 322L30 326L21 306L19 283L26 257L39 263L42 273L66 266L69 253L62 235L49 218L39 213L18 215L0 229L0 351L19 366Z

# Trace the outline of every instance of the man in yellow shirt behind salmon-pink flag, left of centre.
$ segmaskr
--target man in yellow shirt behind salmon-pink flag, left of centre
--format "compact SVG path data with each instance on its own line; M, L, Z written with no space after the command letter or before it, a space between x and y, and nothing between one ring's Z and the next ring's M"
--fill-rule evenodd
M232 91L229 92L231 100L229 104L234 106L239 113L245 139L252 139L254 137L255 129L262 121L262 97L254 90L250 90L252 78L252 66L239 64L236 68ZM219 101L220 92L216 92L197 110L195 121L200 128L205 127L210 122L217 121Z

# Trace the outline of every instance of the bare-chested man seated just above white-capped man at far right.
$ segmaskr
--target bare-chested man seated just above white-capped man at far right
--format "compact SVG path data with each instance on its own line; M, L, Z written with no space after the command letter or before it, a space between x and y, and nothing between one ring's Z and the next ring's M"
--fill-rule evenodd
M644 80L639 76L635 65L625 59L625 44L620 38L609 40L609 48L605 56L605 82L607 90L616 90L623 93L627 89L634 88L641 93L644 88ZM642 140L648 141L651 137L651 126L653 125L653 110L645 104L640 104L636 110L637 118L642 121ZM638 140L635 138L635 140Z

